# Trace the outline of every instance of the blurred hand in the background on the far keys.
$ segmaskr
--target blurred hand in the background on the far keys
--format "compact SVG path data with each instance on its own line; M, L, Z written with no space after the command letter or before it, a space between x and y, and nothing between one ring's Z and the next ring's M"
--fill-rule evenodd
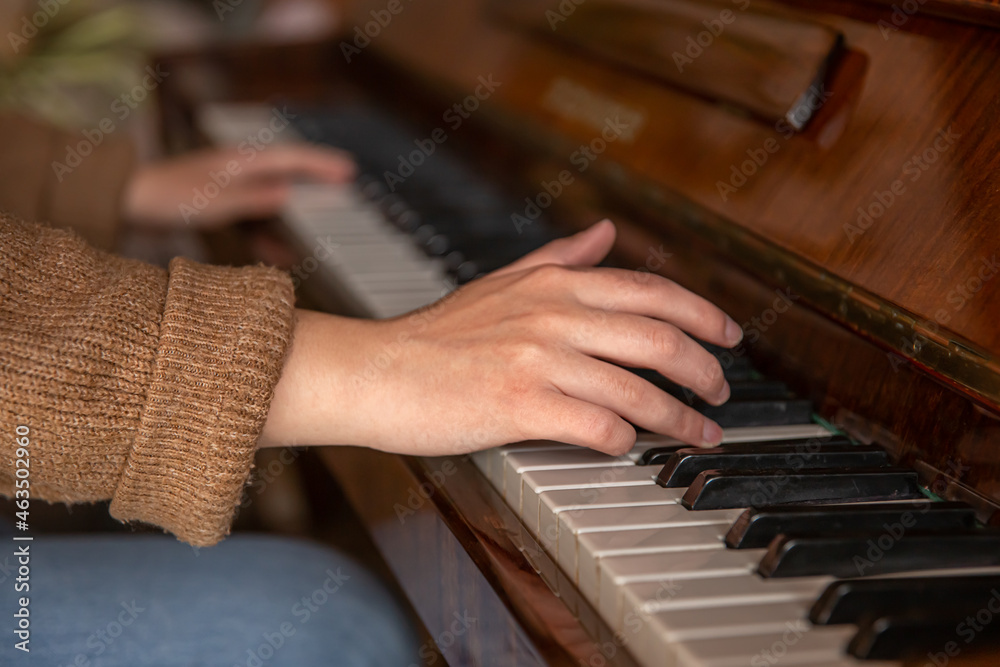
M346 153L308 144L276 144L252 154L201 151L137 169L122 215L140 227L222 227L276 215L295 180L345 183L354 172Z

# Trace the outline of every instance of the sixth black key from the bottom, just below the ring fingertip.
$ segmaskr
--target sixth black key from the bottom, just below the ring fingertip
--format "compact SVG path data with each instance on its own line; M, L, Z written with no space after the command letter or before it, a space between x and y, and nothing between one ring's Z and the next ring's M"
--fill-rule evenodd
M667 489L691 486L705 470L807 470L811 468L876 468L889 465L889 455L880 447L827 444L822 447L797 444L748 443L736 447L682 449L663 466L656 483Z

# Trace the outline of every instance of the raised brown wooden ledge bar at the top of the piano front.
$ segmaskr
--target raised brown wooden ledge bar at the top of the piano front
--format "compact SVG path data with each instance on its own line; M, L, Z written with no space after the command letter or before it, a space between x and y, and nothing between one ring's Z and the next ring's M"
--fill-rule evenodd
M835 30L758 12L744 0L588 0L571 16L559 0L490 7L543 39L796 129L812 115L803 104L809 88L840 55Z

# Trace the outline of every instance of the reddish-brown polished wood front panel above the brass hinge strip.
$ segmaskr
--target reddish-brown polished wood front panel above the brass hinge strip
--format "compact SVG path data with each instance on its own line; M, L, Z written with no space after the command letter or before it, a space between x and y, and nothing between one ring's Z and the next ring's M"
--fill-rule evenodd
M587 145L603 128L546 102L557 82L569 80L607 108L628 111L638 125L631 137L607 145L595 170L618 170L652 193L680 193L692 218L717 216L766 239L911 313L953 341L952 349L973 349L995 368L1000 281L977 274L992 271L1000 252L1000 134L993 131L1000 120L1000 34L917 14L886 38L872 22L878 7L851 5L851 16L833 13L831 3L822 8L807 14L791 7L845 35L852 71L820 96L829 93L825 117L791 136L527 39L491 22L476 3L408 6L373 48L444 89L473 90L480 76L493 74L503 85L484 114L520 123L523 137ZM933 164L921 163L926 170L914 162L925 153L933 157ZM735 192L720 193L720 183L740 182L733 170L754 156L762 164L746 166L751 176ZM572 168L570 157L562 155L564 168ZM902 194L892 193L897 181ZM890 195L892 204L855 234L859 207L877 213L879 197Z

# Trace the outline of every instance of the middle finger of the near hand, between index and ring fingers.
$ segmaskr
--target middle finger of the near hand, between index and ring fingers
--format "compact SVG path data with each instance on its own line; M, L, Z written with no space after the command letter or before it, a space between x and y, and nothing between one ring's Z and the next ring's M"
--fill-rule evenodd
M680 329L641 315L603 313L600 320L567 324L580 352L623 366L652 368L712 405L729 399L722 366Z

